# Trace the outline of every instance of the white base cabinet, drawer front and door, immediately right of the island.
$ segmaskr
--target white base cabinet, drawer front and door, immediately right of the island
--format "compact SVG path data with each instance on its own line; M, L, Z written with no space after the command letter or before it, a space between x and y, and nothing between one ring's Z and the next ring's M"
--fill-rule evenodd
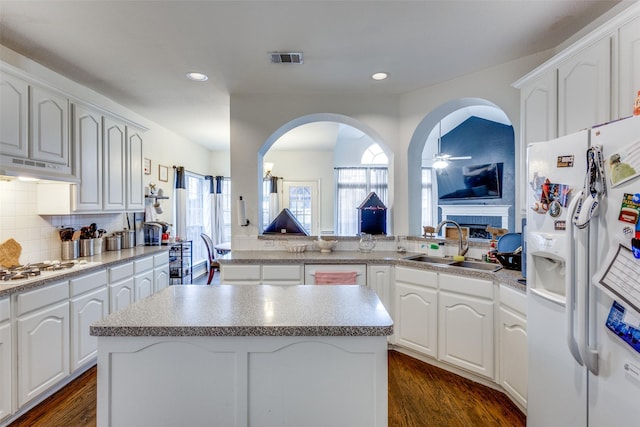
M438 357L438 274L396 267L395 342Z

